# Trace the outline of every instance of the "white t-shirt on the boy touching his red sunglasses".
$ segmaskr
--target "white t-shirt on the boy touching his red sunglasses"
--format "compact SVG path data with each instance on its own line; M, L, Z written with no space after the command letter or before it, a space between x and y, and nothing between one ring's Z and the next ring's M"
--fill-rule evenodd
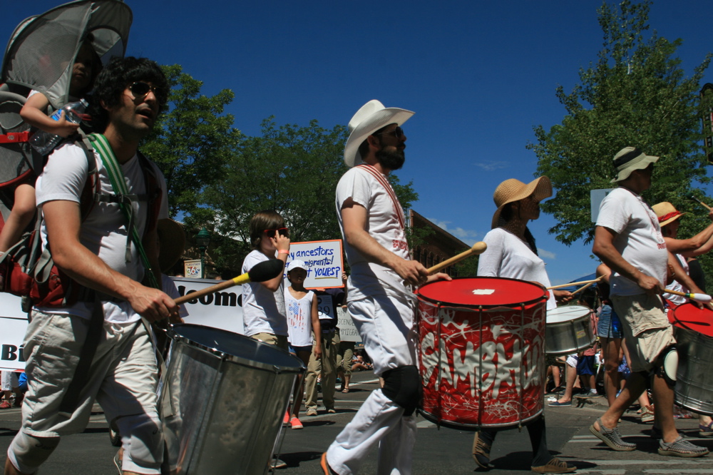
M242 261L242 272L248 272L268 257L254 250ZM287 317L284 314L284 282L280 280L275 292L270 292L259 282L242 285L242 318L245 334L270 333L287 337Z

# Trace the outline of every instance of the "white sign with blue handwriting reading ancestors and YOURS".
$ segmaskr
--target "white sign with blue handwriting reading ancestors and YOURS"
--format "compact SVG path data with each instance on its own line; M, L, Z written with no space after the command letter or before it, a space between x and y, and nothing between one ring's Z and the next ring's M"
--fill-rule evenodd
M289 245L287 268L289 262L301 260L307 267L307 279L304 287L314 289L321 287L329 289L342 287L342 272L344 258L342 257L342 240L292 242ZM289 286L287 274L284 285Z

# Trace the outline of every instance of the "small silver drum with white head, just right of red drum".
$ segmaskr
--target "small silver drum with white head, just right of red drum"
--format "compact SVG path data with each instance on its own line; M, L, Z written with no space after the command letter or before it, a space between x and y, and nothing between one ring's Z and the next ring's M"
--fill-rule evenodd
M571 354L593 346L591 310L583 305L565 305L547 311L545 353Z

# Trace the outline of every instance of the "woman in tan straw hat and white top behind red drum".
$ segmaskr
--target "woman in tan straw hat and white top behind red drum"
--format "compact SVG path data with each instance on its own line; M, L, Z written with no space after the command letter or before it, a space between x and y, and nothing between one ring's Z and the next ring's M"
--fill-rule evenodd
M528 221L540 217L540 201L552 196L552 184L546 176L527 185L511 178L498 185L493 200L498 209L493 215L491 231L483 241L488 250L478 260L478 275L509 277L550 286L545 262L538 257L535 238L528 229ZM571 300L570 292L550 290L548 310L557 306L556 300ZM575 471L565 461L555 458L547 448L545 419L540 416L528 424L533 447L532 470L539 474L563 474ZM490 451L497 432L483 429L473 439L473 459L481 468L490 468Z

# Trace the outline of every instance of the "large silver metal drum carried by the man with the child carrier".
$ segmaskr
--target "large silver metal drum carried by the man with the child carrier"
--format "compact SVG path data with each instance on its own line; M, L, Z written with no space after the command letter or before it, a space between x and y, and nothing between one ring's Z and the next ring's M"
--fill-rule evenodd
M160 412L172 474L263 474L302 362L241 334L178 325Z

